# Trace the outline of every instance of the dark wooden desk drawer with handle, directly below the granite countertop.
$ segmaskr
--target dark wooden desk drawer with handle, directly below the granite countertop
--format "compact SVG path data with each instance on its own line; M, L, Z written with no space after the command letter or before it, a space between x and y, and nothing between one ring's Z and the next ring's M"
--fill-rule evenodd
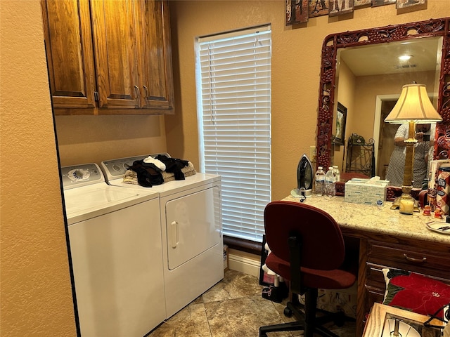
M450 279L450 268L448 268L450 253L415 246L368 242L367 262L380 267L418 272L438 279Z

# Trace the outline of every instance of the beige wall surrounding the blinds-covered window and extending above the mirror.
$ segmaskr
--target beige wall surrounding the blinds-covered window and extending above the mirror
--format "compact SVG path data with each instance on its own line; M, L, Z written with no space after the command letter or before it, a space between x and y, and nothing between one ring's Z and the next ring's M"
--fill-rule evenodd
M316 143L321 45L331 33L450 15L449 0L397 13L395 5L361 8L343 18L311 18L285 27L285 1L170 1L176 115L166 117L167 150L198 166L193 42L197 36L272 25L272 199L296 185L295 170ZM350 17L350 18L349 18Z

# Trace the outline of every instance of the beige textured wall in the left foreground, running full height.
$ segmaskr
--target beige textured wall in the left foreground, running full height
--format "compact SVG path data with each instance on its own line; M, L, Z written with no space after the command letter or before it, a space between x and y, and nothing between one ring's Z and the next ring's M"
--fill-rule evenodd
M76 336L39 1L0 13L0 336Z

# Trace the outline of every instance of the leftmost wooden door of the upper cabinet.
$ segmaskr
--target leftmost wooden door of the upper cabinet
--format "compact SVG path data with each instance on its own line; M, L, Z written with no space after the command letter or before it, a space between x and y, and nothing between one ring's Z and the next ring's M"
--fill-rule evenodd
M94 107L94 56L87 0L41 1L53 107Z

